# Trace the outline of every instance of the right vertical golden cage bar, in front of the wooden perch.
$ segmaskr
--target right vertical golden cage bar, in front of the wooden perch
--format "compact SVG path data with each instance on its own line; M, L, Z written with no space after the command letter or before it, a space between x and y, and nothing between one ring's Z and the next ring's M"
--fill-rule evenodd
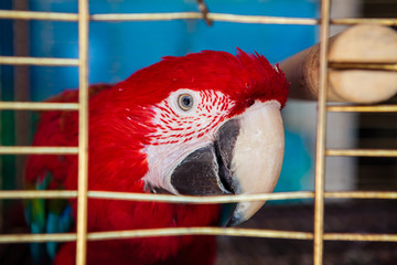
M315 142L314 244L313 264L323 262L324 177L326 131L328 45L330 34L330 0L321 1L320 24L320 91Z

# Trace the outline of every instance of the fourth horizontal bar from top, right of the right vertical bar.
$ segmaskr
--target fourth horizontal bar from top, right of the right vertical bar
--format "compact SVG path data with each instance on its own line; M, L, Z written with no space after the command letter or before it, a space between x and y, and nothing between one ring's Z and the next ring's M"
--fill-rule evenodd
M328 149L332 157L397 157L397 150L389 149Z

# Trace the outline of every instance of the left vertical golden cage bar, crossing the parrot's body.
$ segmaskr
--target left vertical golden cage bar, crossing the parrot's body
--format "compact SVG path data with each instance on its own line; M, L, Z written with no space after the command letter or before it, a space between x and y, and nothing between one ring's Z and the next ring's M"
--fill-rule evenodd
M78 189L76 264L86 263L88 186L88 0L78 0Z

